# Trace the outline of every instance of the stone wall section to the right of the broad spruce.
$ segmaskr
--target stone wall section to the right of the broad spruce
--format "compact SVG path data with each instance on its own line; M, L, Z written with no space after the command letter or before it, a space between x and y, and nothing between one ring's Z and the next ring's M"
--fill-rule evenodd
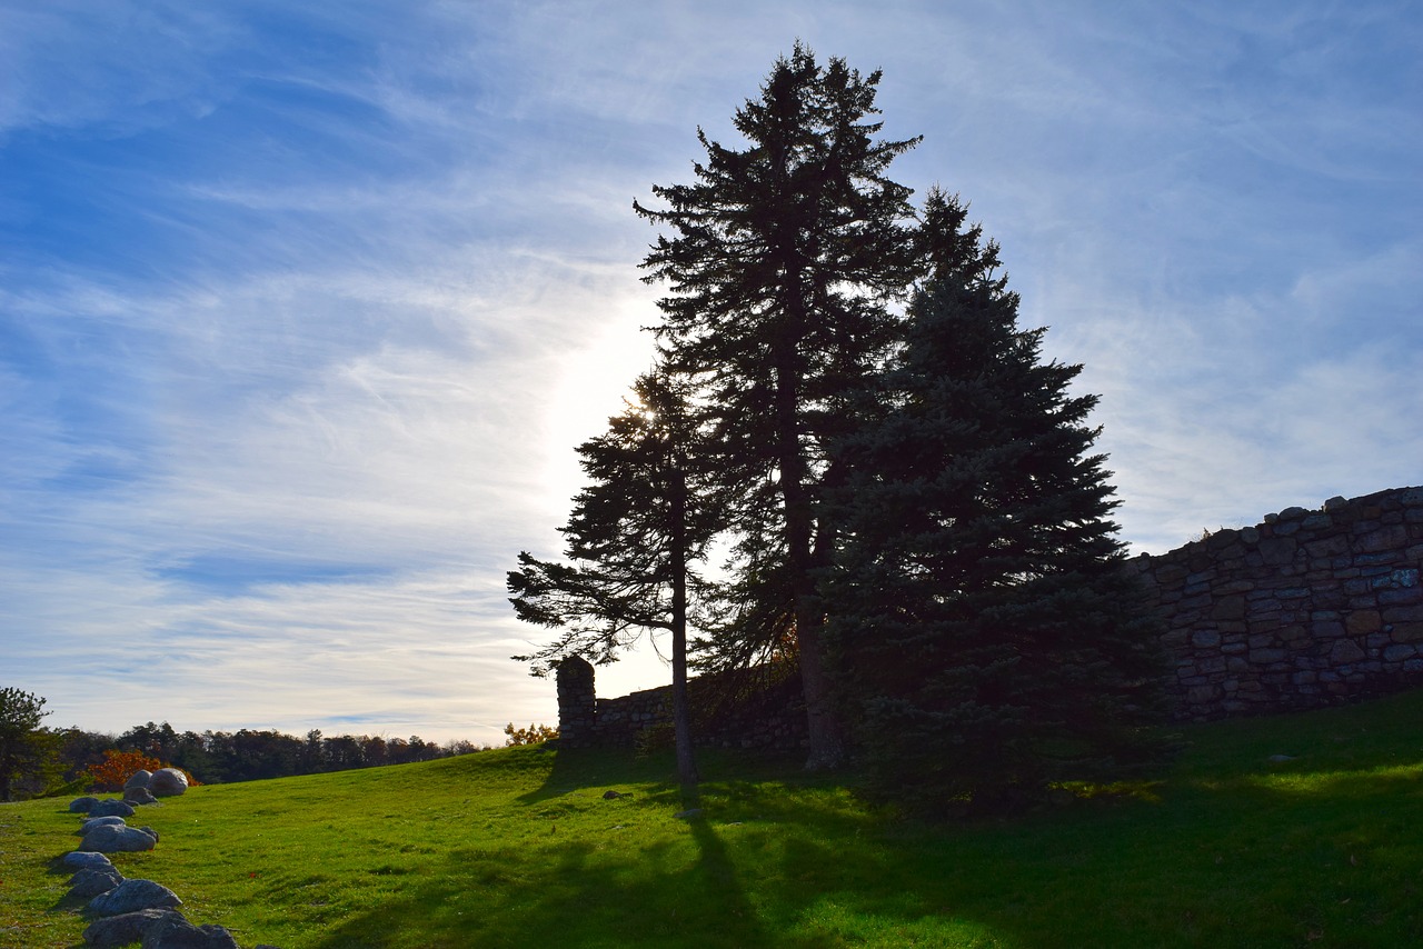
M1286 508L1131 563L1165 623L1180 719L1423 684L1423 488Z

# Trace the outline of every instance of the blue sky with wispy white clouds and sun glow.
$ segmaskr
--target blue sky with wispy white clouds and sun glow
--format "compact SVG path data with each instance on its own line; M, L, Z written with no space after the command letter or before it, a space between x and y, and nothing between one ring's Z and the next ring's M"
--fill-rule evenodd
M1423 484L1413 3L0 0L0 684L552 721L504 573L649 360L632 201L797 37L1086 366L1134 549Z

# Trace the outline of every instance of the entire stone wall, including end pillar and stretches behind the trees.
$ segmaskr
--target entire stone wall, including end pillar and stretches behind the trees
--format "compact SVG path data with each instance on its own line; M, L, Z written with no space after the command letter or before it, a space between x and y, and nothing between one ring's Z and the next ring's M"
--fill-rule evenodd
M1128 569L1165 629L1177 719L1296 711L1423 684L1423 488L1286 508ZM699 744L804 746L797 682L741 689L729 706L726 683L693 680ZM596 699L582 660L561 664L558 683L565 744L628 747L669 728L670 686Z

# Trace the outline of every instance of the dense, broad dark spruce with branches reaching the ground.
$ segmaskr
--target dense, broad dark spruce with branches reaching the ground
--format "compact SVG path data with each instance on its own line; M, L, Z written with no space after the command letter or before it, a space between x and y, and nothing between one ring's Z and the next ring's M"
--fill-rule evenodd
M840 442L831 642L875 784L1000 807L1140 754L1158 682L1080 366L1017 327L998 246L931 193L928 280Z

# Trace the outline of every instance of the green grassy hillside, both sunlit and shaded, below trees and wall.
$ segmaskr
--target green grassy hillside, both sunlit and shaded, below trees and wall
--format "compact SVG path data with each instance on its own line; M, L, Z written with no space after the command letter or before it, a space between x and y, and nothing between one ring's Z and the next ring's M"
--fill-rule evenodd
M114 861L283 949L1423 945L1420 723L1423 691L1192 727L1155 783L945 827L736 758L684 821L670 760L509 748L195 788ZM0 946L78 943L65 804L0 807Z

